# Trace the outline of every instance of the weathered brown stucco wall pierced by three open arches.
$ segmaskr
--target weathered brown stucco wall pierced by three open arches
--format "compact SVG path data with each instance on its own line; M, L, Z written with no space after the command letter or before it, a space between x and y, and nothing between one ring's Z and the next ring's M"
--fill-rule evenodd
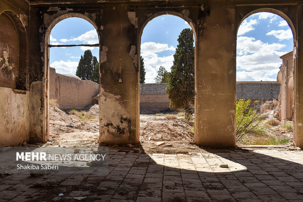
M303 147L302 9L302 0L0 0L0 14L15 13L25 30L20 43L29 45L20 51L26 53L28 69L20 73L19 67L18 82L25 81L29 90L30 141L48 137L50 31L65 18L81 17L100 38L100 142L138 142L141 34L154 17L172 14L189 22L195 34L195 142L235 146L237 29L253 13L272 12L288 22L294 35L294 139ZM23 35L18 32L19 38Z

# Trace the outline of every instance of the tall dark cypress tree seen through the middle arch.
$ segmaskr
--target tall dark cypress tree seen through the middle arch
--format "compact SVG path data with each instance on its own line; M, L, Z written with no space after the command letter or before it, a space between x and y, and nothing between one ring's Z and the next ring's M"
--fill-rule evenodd
M171 101L170 108L185 112L190 119L195 102L195 47L194 33L190 28L183 29L178 38L169 85L166 89Z

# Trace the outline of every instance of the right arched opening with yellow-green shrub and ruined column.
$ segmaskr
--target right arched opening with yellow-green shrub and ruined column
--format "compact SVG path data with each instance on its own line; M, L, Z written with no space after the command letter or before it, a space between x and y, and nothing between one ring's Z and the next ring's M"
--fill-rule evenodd
M265 8L245 16L238 27L238 145L292 143L293 27L281 11Z

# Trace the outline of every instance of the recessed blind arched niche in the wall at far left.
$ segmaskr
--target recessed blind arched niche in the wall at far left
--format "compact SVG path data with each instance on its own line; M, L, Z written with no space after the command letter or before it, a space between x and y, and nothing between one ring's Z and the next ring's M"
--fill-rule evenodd
M26 90L27 45L22 22L12 12L0 15L0 86Z

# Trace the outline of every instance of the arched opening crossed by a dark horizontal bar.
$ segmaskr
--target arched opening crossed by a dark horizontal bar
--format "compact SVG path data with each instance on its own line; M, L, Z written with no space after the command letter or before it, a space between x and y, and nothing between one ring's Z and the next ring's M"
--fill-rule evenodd
M47 130L53 145L96 146L99 138L99 36L82 15L47 30ZM49 57L48 57L49 56Z

